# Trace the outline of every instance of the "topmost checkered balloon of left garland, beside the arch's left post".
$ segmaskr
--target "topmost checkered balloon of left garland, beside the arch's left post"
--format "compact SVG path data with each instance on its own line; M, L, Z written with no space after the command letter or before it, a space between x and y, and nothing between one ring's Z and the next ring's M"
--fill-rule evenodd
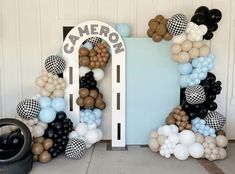
M45 61L45 68L52 74L61 74L65 69L65 61L60 56L51 55Z

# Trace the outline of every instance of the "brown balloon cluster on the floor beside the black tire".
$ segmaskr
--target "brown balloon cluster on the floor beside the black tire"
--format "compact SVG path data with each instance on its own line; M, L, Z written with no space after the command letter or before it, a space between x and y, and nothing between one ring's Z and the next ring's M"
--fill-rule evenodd
M48 163L51 160L51 154L48 150L53 146L53 140L50 138L38 137L33 139L32 153L33 160L41 163Z

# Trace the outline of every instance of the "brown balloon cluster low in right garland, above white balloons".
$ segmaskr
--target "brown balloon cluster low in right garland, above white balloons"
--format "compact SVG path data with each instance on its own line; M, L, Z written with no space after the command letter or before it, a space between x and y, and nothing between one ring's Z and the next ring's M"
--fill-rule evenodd
M192 128L192 125L189 123L188 119L189 117L186 115L182 107L177 106L166 118L165 123L167 125L175 124L176 126L178 126L179 131L182 131L184 129Z

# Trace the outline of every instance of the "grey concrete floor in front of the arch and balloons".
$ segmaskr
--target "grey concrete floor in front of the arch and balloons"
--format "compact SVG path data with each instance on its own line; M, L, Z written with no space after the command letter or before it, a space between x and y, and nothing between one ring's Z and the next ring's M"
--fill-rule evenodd
M107 151L106 143L98 143L87 150L81 160L61 155L48 164L34 163L30 174L234 174L234 143L229 144L227 152L227 159L209 163L212 172L193 158L186 161L174 157L166 159L140 146L129 146L128 151Z

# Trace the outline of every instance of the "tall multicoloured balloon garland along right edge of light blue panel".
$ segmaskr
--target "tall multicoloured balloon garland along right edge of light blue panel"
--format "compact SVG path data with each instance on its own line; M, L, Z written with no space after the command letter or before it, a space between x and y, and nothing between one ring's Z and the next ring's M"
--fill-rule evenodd
M149 21L147 35L158 33L157 15ZM221 82L209 72L214 67L215 56L203 39L210 40L218 28L222 13L205 6L196 9L188 22L183 14L175 14L167 20L167 29L173 35L172 58L178 62L181 86L181 105L166 118L166 125L149 135L149 147L153 152L179 160L206 158L210 161L224 159L228 139L222 131L226 118L216 112L216 95L220 94ZM154 41L159 42L153 37Z

